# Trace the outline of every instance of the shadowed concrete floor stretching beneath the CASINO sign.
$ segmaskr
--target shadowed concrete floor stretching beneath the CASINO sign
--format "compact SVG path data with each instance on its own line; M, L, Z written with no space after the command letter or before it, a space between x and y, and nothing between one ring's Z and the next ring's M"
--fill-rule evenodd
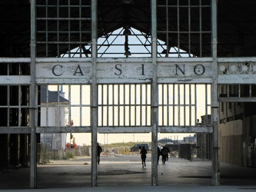
M147 167L142 168L138 154L103 156L101 164L98 165L98 187L91 187L90 157L51 161L49 164L38 165L37 190L83 189L86 191L86 189L90 189L88 191L103 191L102 189L109 189L109 191L115 191L109 187L115 187L115 189L119 187L124 189L151 188L154 186L151 186L150 156L147 157L146 165ZM28 167L5 170L0 175L0 190L19 189L25 191L25 189L29 189L29 170ZM202 187L202 189L211 187L210 191L213 189L211 186L211 161L202 161L201 159L188 161L175 157L169 158L165 164L161 164L159 161L158 187L191 189L194 186ZM240 186L236 189L248 187L251 190L256 190L256 169L221 163L221 186Z

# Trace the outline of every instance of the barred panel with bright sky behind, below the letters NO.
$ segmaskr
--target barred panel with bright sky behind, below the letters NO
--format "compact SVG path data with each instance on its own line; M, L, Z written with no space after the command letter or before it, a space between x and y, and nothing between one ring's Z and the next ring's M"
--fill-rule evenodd
M211 84L159 84L158 89L159 126L197 126L211 114Z

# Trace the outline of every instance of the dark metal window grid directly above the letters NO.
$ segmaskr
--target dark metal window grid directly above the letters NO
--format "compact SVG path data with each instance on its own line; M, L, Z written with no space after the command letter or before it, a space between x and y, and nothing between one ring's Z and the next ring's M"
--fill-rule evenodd
M158 46L158 52L165 54L165 57L211 55L211 25L208 25L211 21L211 1L163 0L157 4L158 15L161 15L158 23L165 24L158 27L158 38L166 39L164 44Z

